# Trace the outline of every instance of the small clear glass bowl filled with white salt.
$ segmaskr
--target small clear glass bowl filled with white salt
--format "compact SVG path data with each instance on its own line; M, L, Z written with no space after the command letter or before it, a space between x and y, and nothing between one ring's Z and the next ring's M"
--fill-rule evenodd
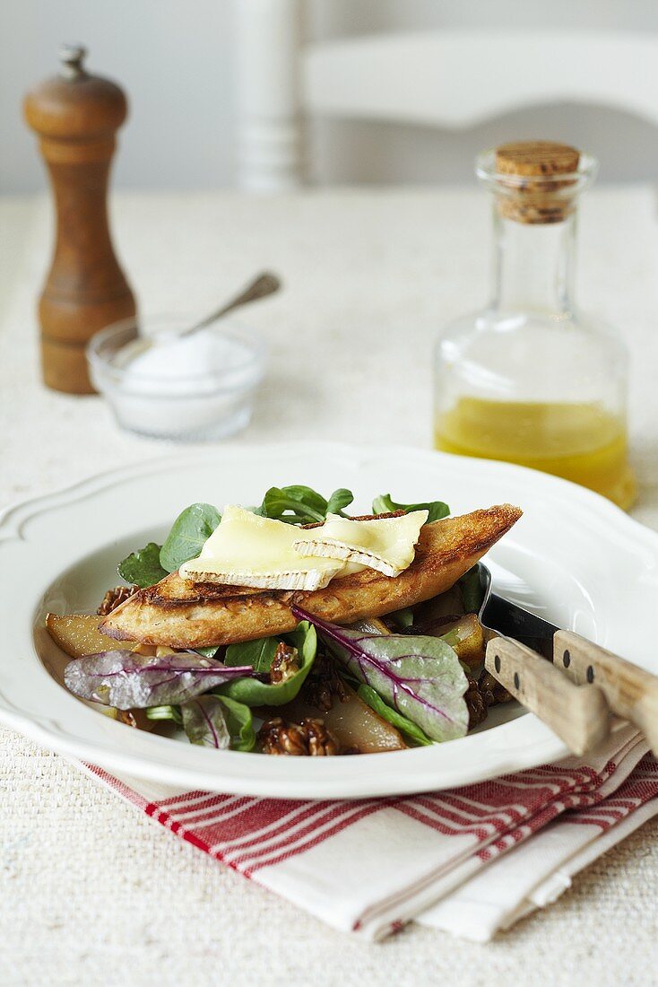
M138 316L89 342L92 383L122 428L201 442L227 438L249 424L265 370L264 342L230 318L177 339L193 321L183 315ZM153 345L142 346L141 338Z

